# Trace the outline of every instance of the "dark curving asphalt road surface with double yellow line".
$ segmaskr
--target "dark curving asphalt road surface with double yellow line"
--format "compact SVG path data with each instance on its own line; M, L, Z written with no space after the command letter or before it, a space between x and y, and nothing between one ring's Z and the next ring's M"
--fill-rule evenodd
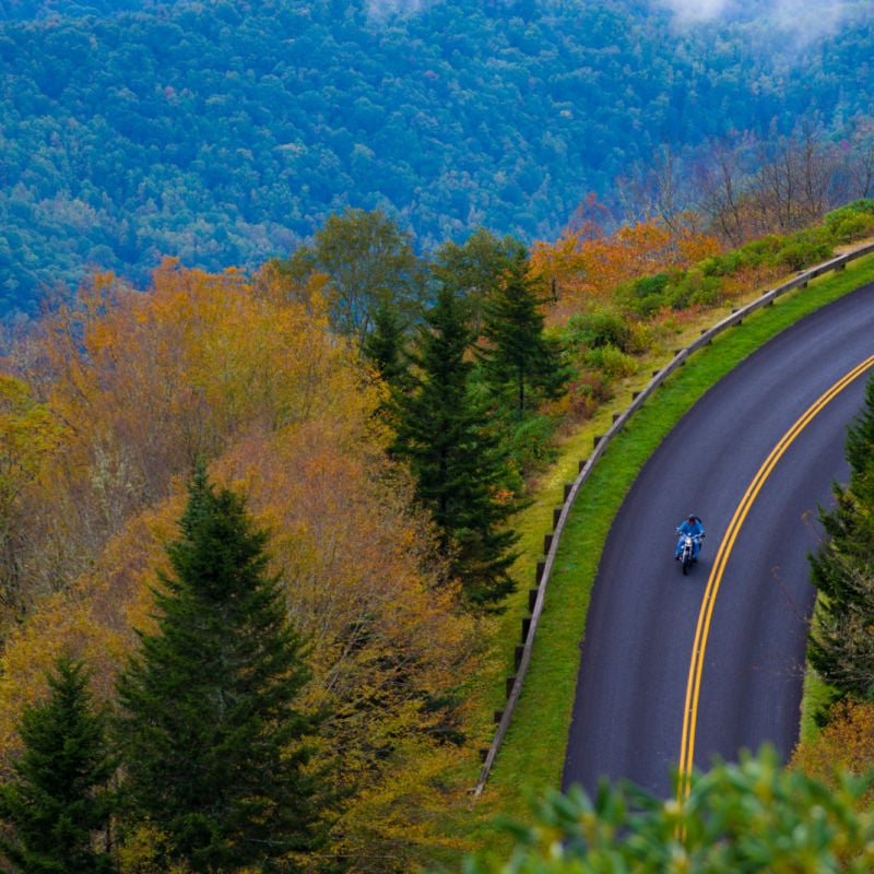
M743 327L729 329L743 330ZM687 364L694 367L694 361ZM874 285L763 346L641 469L592 591L563 787L605 777L659 796L672 771L798 740L817 506L846 481L847 425L874 367ZM707 536L684 577L674 530Z

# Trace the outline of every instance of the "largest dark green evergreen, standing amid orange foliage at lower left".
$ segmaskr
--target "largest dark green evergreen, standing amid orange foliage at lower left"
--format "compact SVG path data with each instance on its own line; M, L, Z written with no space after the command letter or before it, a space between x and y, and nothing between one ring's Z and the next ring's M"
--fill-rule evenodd
M302 642L243 498L202 471L189 493L157 631L118 681L125 798L191 871L293 871L324 799L306 769L317 721L295 708Z

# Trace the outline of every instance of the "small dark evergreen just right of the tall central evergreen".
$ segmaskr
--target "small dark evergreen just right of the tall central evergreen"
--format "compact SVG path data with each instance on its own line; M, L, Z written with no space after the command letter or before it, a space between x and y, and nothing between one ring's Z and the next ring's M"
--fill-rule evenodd
M518 418L538 398L559 397L569 378L559 347L543 332L541 308L547 299L529 275L528 255L520 245L486 299L486 344L480 350L487 381L498 394L511 392Z

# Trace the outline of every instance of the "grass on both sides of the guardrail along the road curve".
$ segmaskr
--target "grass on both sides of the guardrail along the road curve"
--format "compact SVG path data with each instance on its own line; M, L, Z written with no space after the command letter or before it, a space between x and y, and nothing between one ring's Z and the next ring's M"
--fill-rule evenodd
M805 315L871 281L874 257L815 280L807 288L791 292L775 306L753 314L741 327L723 332L674 374L607 448L580 492L565 528L519 707L470 820L476 832L475 842L485 851L506 849L505 838L491 825L493 816L525 818L530 799L559 784L591 586L612 519L640 465L695 401L743 358ZM673 347L692 342L702 328L722 317L722 312L711 312L687 326L676 335ZM500 708L504 704L503 675L513 673L513 647L521 639L521 618L528 615L528 589L534 586L543 536L553 530L553 509L563 503L565 483L574 481L595 435L603 434L613 415L625 409L630 392L642 388L651 370L663 366L672 355L673 350L653 353L643 362L639 378L627 380L613 403L565 441L560 459L540 483L532 506L518 520L523 536L522 556L516 568L519 591L494 642L495 651L503 650L504 654L496 657L494 673L484 678L484 688L491 689L485 695L485 707Z

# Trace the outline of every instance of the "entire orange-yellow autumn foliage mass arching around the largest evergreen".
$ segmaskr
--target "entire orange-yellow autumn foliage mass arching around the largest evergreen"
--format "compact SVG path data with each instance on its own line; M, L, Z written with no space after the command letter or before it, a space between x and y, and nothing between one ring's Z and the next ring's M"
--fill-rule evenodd
M385 452L382 390L327 330L318 283L290 298L268 272L173 262L147 294L101 276L40 343L19 377L64 440L28 495L24 564L38 597L4 641L0 767L59 652L83 658L96 697L111 702L134 629L153 628L164 545L204 460L269 530L290 615L309 642L305 699L330 713L318 753L342 756L352 790L333 851L354 858L353 871L380 870L387 852L400 853L394 870L414 870L444 845L440 816L463 796L446 784L435 794L437 775L473 758L440 739L464 725L454 698L475 669L475 628L458 592L437 583L435 532ZM405 855L404 830L415 837ZM151 834L130 871L151 864Z

